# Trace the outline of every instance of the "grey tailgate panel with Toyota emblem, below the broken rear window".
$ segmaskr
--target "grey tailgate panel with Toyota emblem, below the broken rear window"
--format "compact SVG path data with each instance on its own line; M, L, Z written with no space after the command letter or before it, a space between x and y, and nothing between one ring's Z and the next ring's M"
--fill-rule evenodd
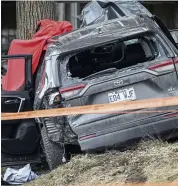
M143 66L142 66L143 67ZM83 81L83 88L77 96L66 99L65 106L82 106L92 104L103 104L112 101L119 102L125 100L141 100L157 97L169 97L178 95L177 77L175 73L157 74L152 70L141 68L137 65L129 68L128 71L117 71L110 76L97 77L88 81ZM120 98L118 98L120 96ZM164 108L160 108L164 109ZM160 110L159 109L159 110ZM84 114L70 115L67 117L69 124L75 130L82 125L116 117L118 123L137 121L140 119L160 115L158 113L147 114ZM122 118L122 119L121 119ZM95 126L91 132L96 132L102 128L114 127L116 123L104 123Z

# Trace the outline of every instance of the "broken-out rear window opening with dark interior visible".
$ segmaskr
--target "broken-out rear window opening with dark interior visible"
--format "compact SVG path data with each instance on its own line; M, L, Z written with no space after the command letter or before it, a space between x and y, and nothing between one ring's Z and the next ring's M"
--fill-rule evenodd
M123 42L93 46L69 57L66 74L70 78L82 79L103 70L117 70L154 60L160 56L161 51L161 45L157 42L153 36L141 36Z

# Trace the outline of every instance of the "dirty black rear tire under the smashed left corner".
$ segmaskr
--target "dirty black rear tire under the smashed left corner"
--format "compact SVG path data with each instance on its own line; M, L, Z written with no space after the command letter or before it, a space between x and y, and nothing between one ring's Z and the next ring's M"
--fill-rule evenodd
M48 134L45 126L41 130L43 149L46 156L49 169L52 170L59 165L63 164L64 149L60 144L51 141L48 138Z

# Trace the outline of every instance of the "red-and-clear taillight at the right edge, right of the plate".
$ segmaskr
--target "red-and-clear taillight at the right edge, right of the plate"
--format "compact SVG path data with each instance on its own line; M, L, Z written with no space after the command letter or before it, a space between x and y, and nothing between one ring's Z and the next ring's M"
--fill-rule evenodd
M175 60L175 64L177 66L178 59ZM157 72L175 71L173 60L168 60L168 61L161 62L159 64L156 64L156 65L153 65L153 66L149 67L148 69L149 70L154 70L154 71L157 71Z

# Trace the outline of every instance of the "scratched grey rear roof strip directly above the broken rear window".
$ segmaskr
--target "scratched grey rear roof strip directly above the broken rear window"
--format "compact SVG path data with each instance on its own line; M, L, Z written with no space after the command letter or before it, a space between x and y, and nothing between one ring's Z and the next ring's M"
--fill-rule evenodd
M66 53L155 29L156 24L148 17L122 17L87 26L52 39L55 40L60 53Z

